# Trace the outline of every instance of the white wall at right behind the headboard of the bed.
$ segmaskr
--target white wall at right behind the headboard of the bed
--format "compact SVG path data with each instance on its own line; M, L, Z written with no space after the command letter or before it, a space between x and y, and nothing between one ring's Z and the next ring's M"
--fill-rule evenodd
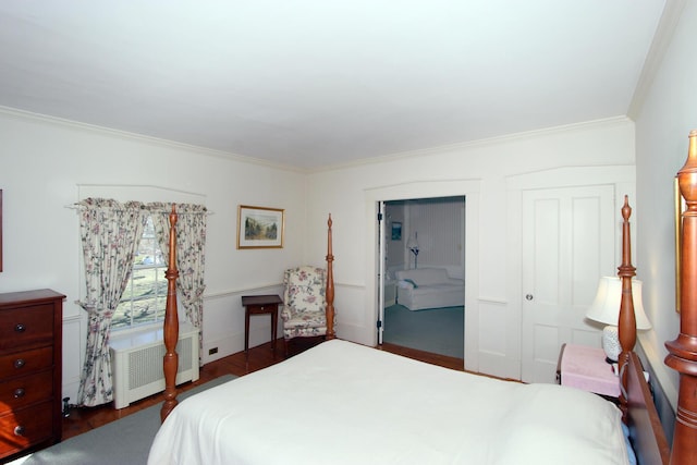
M639 333L673 408L677 375L663 365L663 342L680 330L675 313L673 178L687 157L687 134L697 129L697 2L685 2L673 39L636 119L637 272L653 331Z

